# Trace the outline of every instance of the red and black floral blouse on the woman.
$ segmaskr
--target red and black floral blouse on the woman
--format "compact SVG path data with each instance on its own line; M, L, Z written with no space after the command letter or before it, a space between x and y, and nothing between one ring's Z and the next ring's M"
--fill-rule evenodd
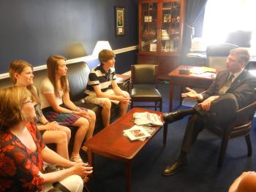
M40 191L41 151L45 147L34 123L26 126L37 145L34 153L7 130L0 129L0 191Z

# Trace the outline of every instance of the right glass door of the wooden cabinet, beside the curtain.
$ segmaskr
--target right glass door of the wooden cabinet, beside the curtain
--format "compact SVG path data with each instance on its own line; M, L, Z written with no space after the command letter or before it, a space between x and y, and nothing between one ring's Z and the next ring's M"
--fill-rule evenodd
M162 4L162 27L160 34L160 51L172 53L178 51L181 1L170 1Z

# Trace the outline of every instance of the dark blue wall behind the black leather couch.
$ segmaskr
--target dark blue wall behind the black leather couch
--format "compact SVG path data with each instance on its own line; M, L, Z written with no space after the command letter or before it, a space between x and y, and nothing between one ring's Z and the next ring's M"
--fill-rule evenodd
M121 37L115 35L115 6L126 12ZM17 58L40 66L51 54L91 55L99 40L108 40L113 50L138 45L138 0L4 0L0 25L1 74ZM135 61L135 51L127 54L117 55L120 72Z

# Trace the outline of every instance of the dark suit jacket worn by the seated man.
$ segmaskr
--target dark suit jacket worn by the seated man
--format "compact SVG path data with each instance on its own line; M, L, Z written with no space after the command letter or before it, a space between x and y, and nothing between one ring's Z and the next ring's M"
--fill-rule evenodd
M219 90L227 81L229 74L230 72L227 70L220 71L208 90L202 93L203 100L210 96L218 96ZM242 107L251 104L253 101L256 101L255 90L256 77L244 69L236 80L232 82L226 93L231 93L236 97L238 108L241 109Z

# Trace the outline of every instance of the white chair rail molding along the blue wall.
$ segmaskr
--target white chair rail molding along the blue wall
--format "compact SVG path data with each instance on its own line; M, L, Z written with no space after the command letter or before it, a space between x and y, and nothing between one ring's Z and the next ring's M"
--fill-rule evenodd
M121 49L118 49L118 50L113 50L113 52L115 54L120 54L120 53L126 53L126 52L129 52L129 51L132 51L132 50L137 50L137 49L138 49L138 45L135 45L135 46L131 46L131 47L124 47L124 48L121 48ZM78 62L81 62L81 61L86 62L86 61L91 61L91 60L94 60L94 59L96 59L96 57L94 57L92 55L88 55L88 56L85 56L85 57L68 59L67 64L75 64L75 63L78 63ZM34 67L34 72L37 72L37 71L40 71L40 70L43 70L43 69L47 69L47 66L46 65L35 66ZM8 77L10 77L9 73L0 74L0 80L6 79Z

